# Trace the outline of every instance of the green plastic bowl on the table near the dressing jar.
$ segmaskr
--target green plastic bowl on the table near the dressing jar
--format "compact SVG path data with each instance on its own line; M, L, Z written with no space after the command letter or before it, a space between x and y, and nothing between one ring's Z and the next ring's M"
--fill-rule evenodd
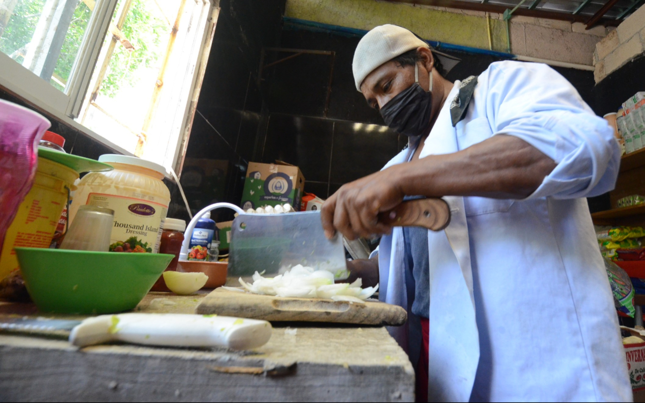
M174 257L22 247L15 252L38 309L93 315L134 309Z

